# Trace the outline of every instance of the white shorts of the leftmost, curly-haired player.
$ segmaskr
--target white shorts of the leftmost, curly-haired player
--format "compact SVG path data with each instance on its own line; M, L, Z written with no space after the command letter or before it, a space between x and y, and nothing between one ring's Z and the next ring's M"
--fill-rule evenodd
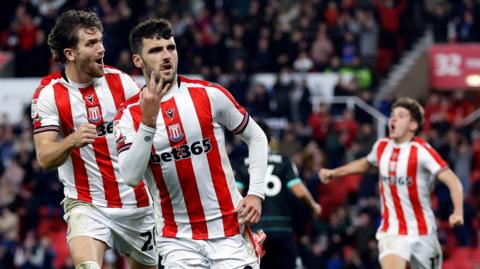
M122 255L137 262L156 266L155 219L151 207L100 208L90 203L66 198L63 202L68 224L67 242L88 236L115 247Z

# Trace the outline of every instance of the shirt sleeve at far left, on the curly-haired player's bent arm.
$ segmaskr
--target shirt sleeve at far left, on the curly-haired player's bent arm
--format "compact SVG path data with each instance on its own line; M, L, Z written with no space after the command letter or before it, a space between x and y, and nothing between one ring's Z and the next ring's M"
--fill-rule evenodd
M33 134L60 130L60 118L50 89L42 89L33 96L31 110Z

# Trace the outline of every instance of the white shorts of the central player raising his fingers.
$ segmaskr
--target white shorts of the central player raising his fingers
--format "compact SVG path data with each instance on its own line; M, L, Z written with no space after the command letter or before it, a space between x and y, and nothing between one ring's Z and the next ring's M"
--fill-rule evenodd
M260 266L252 244L240 234L209 240L160 237L157 245L165 269Z

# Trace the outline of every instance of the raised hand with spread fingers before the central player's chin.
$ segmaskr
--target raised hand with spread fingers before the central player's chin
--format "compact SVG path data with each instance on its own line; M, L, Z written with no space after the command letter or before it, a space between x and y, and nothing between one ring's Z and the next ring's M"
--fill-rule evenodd
M145 90L140 92L140 108L142 109L142 123L155 128L158 113L160 111L160 101L165 93L171 87L171 83L165 83L163 77L160 81L156 80L156 72L150 73L150 80Z

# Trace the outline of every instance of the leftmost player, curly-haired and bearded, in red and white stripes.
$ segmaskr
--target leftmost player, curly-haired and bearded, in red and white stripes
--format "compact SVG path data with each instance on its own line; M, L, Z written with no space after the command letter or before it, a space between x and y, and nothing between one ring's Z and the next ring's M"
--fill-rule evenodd
M37 160L44 169L58 167L75 268L101 268L113 246L132 268L157 268L151 199L143 183L132 188L121 179L112 131L120 104L139 88L104 66L102 32L95 13L77 10L52 29L48 45L65 68L43 78L33 96Z

